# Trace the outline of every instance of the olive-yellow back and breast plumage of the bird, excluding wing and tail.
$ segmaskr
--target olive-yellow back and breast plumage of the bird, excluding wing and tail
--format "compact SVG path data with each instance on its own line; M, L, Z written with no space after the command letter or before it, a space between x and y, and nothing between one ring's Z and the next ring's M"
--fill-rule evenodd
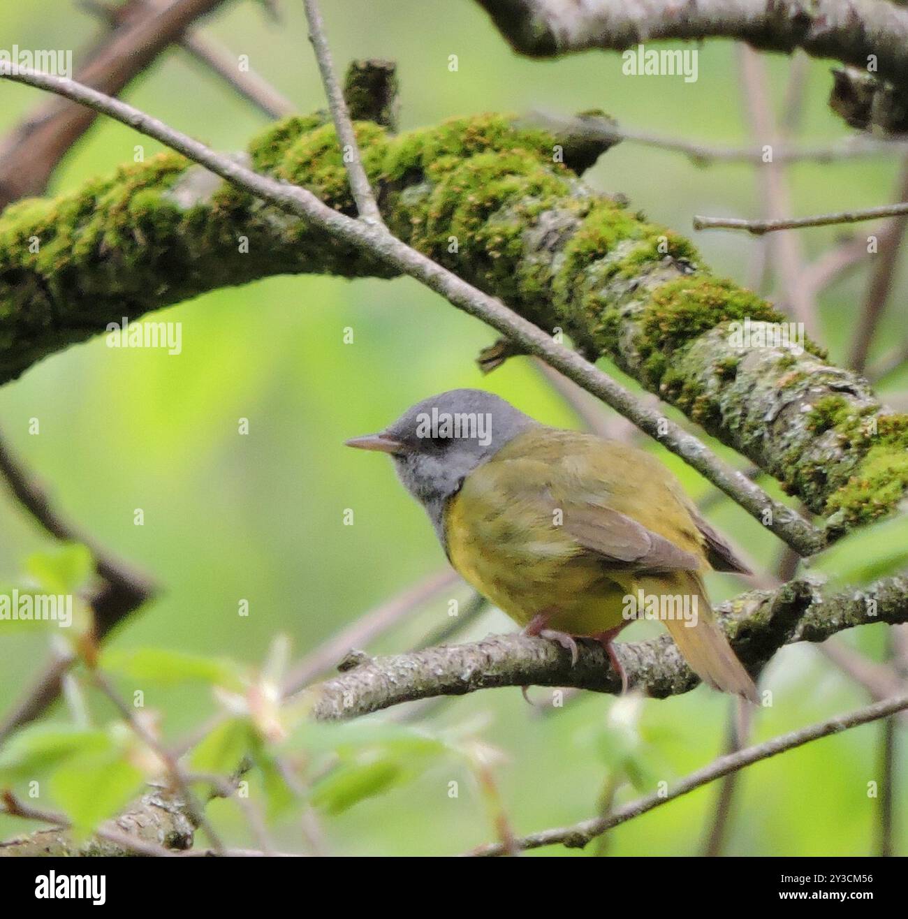
M448 557L465 580L521 625L547 613L551 628L573 635L613 629L623 621L624 597L636 590L635 575L579 546L559 525L559 506L565 495L607 502L700 552L696 528L686 512L678 514L672 481L658 460L640 450L540 425L471 472L448 502ZM651 506L653 494L664 506Z

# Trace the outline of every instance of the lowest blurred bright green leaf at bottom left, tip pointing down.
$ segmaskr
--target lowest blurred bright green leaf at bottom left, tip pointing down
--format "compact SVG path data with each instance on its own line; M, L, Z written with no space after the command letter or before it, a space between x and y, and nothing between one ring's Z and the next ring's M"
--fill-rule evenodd
M89 833L121 811L142 790L141 770L117 751L76 757L51 776L51 797L73 822Z

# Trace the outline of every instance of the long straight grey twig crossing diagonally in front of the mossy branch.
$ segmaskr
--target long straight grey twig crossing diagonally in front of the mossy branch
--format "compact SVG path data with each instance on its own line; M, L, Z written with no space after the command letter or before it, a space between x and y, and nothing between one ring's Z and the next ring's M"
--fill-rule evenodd
M13 73L7 65L0 66L0 77L37 86L72 98L90 108L96 108L111 118L161 141L178 153L183 153L187 158L205 166L237 187L244 188L282 210L312 221L326 233L356 245L382 263L422 281L426 287L441 294L454 306L507 335L528 354L543 357L552 367L560 369L566 377L598 396L620 414L630 418L641 430L655 437L664 447L685 459L710 482L732 496L752 516L761 522L770 520L767 528L801 555L812 555L825 545L822 530L814 528L788 505L777 502L741 472L719 459L698 437L688 434L683 427L659 412L642 406L630 391L580 354L558 344L539 326L508 309L501 301L482 293L462 278L437 265L426 255L392 236L383 224L367 223L347 217L346 214L323 204L312 192L259 175L228 157L214 153L204 144L170 128L139 109L119 99L98 93L88 86L74 83L73 80L24 69Z

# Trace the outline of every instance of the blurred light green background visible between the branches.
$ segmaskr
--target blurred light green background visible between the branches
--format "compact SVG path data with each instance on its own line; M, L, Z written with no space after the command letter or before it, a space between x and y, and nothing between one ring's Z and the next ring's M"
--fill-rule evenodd
M615 54L552 62L519 59L470 2L347 0L326 7L339 68L351 57L398 62L403 130L489 110L570 114L603 108L629 127L702 142L749 140L737 50L728 43L703 46L698 82L686 84L672 77L623 76ZM284 21L277 26L257 4L238 0L202 28L235 53L248 54L255 70L301 112L321 108L301 4L285 2L281 8ZM63 0L0 8L3 47L74 48L78 61L79 49L97 28L92 17ZM448 71L450 54L459 55L457 73ZM789 62L767 61L773 96L780 102ZM811 142L846 134L826 107L828 70L828 62L811 62L807 72L800 135ZM0 98L0 130L43 101L36 90L18 85L0 86ZM243 149L267 123L178 49L131 85L125 98L224 151ZM131 131L100 121L57 171L52 190L75 187L130 161L136 142ZM886 202L898 165L895 156L795 165L789 170L792 208L803 214ZM761 213L748 165L698 168L677 153L623 143L587 179L624 192L654 220L683 233L690 232L694 213ZM816 256L840 233L811 230L801 240ZM747 282L757 241L743 234L699 233L696 242L714 267ZM834 360L848 352L865 279L862 268L823 296L820 337ZM899 278L893 305L904 301L906 280ZM892 308L884 320L881 346L902 335L899 312ZM183 323L179 357L108 349L96 339L44 360L0 391L0 427L48 485L53 500L101 544L165 585L164 595L114 636L117 647L161 646L255 664L275 634L285 632L300 656L369 607L441 568L444 556L424 513L394 480L391 464L342 446L346 437L386 424L426 395L481 386L545 422L578 424L526 359L514 359L482 378L474 358L494 334L409 279L272 278L180 304L165 311L165 318ZM353 329L352 344L344 343L346 327ZM903 407L906 385L902 370L883 391ZM249 419L248 437L237 434L241 417ZM40 419L40 436L29 436L30 418ZM696 473L672 457L664 459L691 494L709 493ZM137 507L144 510L143 527L133 525ZM355 512L352 527L343 525L346 508ZM714 505L709 516L745 547L760 572L774 570L779 544L755 521L727 500ZM21 573L28 553L50 543L5 493L0 494L0 520L0 580L11 580ZM848 539L812 570L860 582L874 560L906 546L903 525L875 528ZM896 558L889 567L898 563ZM718 600L746 583L717 575L710 586ZM240 598L249 600L248 618L237 615ZM369 650L405 650L445 625L447 608L448 595L438 596ZM513 628L493 612L463 637ZM866 627L838 641L880 658L886 630ZM17 632L4 639L0 700L5 708L28 685L46 650L45 633ZM774 705L757 714L755 739L866 701L863 690L812 646L780 652L761 686L773 691ZM531 695L547 694L537 689ZM148 689L146 704L162 713L168 737L181 736L215 709L208 690L192 686ZM511 823L521 833L595 813L605 766L589 737L613 704L589 694L539 717L517 689L496 690L448 701L427 723L488 719L481 735L505 753L496 775ZM652 740L657 777L671 781L714 757L729 707L727 699L704 688L647 701L641 730ZM106 710L97 706L99 715ZM867 789L868 782L881 780L881 731L880 724L869 725L746 770L726 852L871 853L879 801L868 798ZM448 854L492 838L478 793L449 799L451 779L470 788L457 766L437 766L406 788L325 820L329 850ZM620 827L611 834L609 851L696 852L716 792L715 787L700 790ZM619 800L632 794L622 789ZM903 771L895 794L903 805L908 798ZM211 812L232 841L247 841L244 823L229 805L219 803ZM904 854L908 828L904 821L897 825L897 850ZM0 837L20 829L20 823L0 819ZM284 845L297 845L293 824L279 826L276 833Z

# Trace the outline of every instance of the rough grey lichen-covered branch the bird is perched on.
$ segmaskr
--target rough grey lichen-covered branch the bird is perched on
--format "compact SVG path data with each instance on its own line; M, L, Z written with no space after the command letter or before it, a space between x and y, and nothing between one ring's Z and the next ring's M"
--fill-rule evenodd
M758 672L783 645L824 641L838 631L872 622L908 621L908 577L891 577L863 591L823 596L807 582L775 592L754 591L719 607L735 653ZM698 677L667 635L616 645L631 686L653 698L685 693ZM498 635L471 644L377 657L312 686L306 693L319 720L357 718L403 702L460 696L499 686L564 686L619 693L621 679L595 641L580 641L580 655L557 642Z

